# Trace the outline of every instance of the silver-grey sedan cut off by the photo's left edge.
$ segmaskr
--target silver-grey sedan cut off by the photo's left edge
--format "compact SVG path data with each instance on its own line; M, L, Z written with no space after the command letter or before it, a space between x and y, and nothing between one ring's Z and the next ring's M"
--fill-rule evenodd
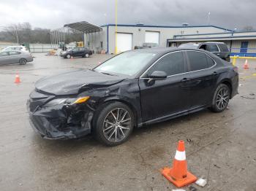
M33 57L30 52L20 50L0 52L0 65L8 63L20 63L21 65L24 65L31 61L33 61Z

